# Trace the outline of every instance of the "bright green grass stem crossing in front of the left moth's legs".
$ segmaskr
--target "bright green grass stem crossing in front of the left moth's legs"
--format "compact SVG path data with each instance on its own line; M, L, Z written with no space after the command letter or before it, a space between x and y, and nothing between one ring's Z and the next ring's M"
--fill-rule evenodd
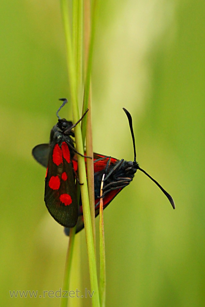
M68 0L61 0L62 18L63 18L63 25L65 29L65 43L66 43L66 51L67 51L69 88L70 88L71 103L72 103L72 110L73 110L73 122L77 122L80 116L79 116L79 109L78 109L77 77L76 77L76 68L75 68L75 62L74 62L73 45L72 45L72 40L71 40L68 5L69 5ZM77 125L74 128L74 131L75 131L76 149L79 153L84 154L84 145L82 141L81 126ZM93 231L92 231L92 224L91 224L91 217L90 217L85 160L84 160L84 157L81 157L80 155L78 155L78 172L79 172L80 182L83 183L83 185L81 185L81 199L82 199L82 206L83 206L85 235L86 235L86 243L87 243L87 250L88 250L88 259L89 259L90 285L91 285L91 291L94 290L94 294L92 297L92 303L94 307L97 307L97 306L100 306L100 301L99 301L99 291L98 291L98 282L97 282L96 257L95 257L95 250L94 250L94 243L93 243Z

